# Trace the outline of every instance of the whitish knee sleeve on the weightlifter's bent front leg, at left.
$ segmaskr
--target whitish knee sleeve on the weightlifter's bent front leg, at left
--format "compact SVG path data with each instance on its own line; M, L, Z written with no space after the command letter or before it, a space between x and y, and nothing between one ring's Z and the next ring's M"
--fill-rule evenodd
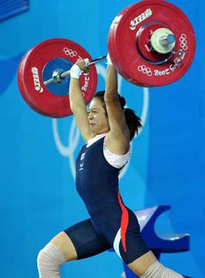
M64 254L52 243L48 243L38 254L40 278L60 278L60 265L66 262Z

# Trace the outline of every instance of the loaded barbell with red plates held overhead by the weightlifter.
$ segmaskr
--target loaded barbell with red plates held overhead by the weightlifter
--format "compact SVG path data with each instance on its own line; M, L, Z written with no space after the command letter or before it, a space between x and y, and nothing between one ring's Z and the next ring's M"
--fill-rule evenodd
M195 56L195 33L188 17L163 0L144 0L125 8L113 20L108 52L119 74L142 87L177 81ZM97 88L95 63L90 54L72 40L45 40L29 50L19 64L19 90L26 103L42 115L71 115L69 69L77 60L89 58L90 72L79 79L85 104Z

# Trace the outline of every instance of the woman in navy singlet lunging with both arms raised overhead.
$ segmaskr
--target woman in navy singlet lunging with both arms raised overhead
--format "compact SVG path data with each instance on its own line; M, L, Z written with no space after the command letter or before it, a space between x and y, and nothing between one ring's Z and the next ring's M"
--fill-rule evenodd
M130 141L140 118L117 93L117 74L108 56L106 90L92 99L87 111L79 76L88 72L88 59L71 68L69 100L85 145L76 159L76 189L90 219L55 236L38 254L40 278L59 278L60 265L87 258L111 247L142 278L182 278L159 263L140 235L136 215L118 190L118 175L130 157Z

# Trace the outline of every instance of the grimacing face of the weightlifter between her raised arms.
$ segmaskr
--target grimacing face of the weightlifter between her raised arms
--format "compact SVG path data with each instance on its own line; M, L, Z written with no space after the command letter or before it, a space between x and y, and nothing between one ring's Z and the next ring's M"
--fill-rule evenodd
M88 121L90 124L90 131L95 135L106 133L110 130L108 117L106 111L97 98L92 99L88 109Z

